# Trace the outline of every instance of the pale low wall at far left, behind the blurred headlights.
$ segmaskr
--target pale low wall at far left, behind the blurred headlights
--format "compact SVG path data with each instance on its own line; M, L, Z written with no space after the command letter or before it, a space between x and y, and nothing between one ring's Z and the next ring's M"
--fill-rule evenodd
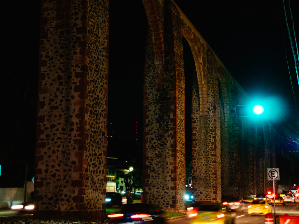
M27 201L33 202L31 192L34 191L34 183L27 182ZM0 209L10 209L12 205L24 202L24 188L0 188Z

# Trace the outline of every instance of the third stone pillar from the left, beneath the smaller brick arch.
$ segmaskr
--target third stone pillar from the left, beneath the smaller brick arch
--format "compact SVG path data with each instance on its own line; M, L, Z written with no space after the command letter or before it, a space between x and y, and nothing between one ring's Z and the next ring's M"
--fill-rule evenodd
M215 86L213 56L202 50L206 60L203 76L207 80L207 110L200 113L199 99L192 102L192 185L196 200L219 202L221 200L220 107L218 85ZM200 74L198 74L198 79ZM198 89L199 93L203 89ZM204 91L204 90L203 90ZM198 97L197 97L198 98ZM218 100L219 101L219 100Z

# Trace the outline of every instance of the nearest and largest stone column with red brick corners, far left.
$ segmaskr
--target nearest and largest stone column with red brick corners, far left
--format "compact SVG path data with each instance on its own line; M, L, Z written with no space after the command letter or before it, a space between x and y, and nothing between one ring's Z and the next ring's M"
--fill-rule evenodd
M36 215L103 220L108 0L42 1Z

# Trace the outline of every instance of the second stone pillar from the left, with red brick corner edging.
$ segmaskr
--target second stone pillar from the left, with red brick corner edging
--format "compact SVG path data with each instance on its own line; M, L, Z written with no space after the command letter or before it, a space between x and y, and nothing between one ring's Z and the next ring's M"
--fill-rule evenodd
M164 211L184 211L184 73L175 67L170 6L165 6L169 18L164 18L162 30L155 2L143 3L149 21L144 75L143 202L156 203Z

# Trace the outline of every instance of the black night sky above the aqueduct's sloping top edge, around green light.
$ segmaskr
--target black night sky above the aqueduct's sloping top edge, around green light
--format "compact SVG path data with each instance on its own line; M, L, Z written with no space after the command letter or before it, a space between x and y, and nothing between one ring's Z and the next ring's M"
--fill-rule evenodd
M289 1L284 1L292 32ZM282 0L175 2L252 98L277 95L294 108L286 48L298 105L299 87ZM298 34L298 0L291 0L290 5Z

